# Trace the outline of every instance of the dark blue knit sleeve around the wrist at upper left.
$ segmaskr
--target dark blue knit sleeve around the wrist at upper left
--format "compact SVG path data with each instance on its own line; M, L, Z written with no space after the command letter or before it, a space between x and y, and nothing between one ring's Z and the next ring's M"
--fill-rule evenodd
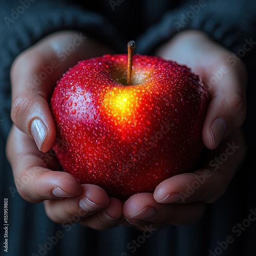
M80 30L108 45L118 45L113 25L95 12L68 0L2 1L0 8L0 134L10 129L10 67L14 58L37 40L63 29Z

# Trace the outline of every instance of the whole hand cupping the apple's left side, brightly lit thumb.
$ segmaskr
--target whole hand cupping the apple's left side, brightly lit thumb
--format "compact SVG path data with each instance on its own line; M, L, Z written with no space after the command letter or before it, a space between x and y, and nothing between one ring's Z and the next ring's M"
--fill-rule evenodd
M96 185L80 185L72 175L58 172L61 167L48 152L56 135L49 106L56 80L79 60L106 53L112 52L80 32L63 31L19 54L11 67L14 125L7 157L14 181L25 200L44 201L47 215L57 223L79 221L105 229L116 225L122 216L120 200L109 198Z

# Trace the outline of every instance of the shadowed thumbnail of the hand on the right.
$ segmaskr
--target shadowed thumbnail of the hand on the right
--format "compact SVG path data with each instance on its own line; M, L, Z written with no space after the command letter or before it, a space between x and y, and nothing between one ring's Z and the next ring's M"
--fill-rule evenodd
M214 142L214 148L217 148L222 141L224 134L227 130L226 121L222 117L216 118L211 126L210 126L210 132L212 141Z

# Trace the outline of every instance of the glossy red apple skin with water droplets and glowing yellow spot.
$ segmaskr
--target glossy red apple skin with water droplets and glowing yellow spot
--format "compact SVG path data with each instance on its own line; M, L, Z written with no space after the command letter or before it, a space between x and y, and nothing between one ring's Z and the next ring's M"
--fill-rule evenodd
M83 60L51 98L63 170L119 199L191 171L208 105L199 77L161 57L134 55L132 84L126 79L126 54Z

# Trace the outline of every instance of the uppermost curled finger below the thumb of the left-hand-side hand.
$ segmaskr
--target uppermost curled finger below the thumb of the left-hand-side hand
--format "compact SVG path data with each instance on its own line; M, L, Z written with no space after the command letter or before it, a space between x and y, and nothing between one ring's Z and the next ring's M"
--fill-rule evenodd
M48 169L40 161L41 154L26 134L12 127L7 157L20 196L31 203L79 196L81 185L77 179L68 173Z

